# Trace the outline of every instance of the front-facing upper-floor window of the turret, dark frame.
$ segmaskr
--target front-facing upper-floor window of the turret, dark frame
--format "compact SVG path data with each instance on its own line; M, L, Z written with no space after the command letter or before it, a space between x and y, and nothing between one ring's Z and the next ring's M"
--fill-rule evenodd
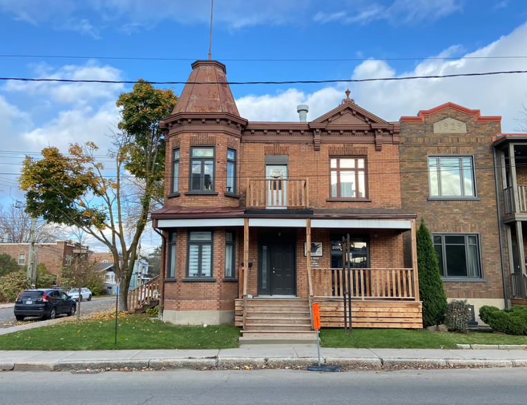
M214 163L214 147L190 147L189 191L214 191Z

